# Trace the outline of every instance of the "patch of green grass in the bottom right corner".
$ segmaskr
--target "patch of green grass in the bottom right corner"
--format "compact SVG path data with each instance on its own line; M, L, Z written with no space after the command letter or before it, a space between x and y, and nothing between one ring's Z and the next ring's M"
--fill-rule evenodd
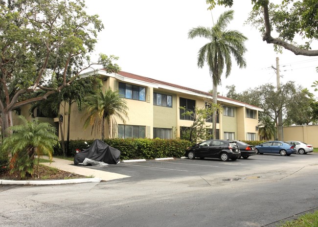
M307 213L298 219L288 221L278 227L318 227L318 210L314 213Z

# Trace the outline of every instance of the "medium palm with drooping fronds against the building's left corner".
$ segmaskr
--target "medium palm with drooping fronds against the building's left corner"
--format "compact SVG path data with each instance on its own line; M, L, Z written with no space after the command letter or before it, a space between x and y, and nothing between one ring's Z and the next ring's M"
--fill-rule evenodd
M102 140L105 138L105 121L109 126L109 135L113 137L114 127L117 126L115 117L124 124L126 123L125 118L128 118L126 101L118 92L111 89L106 90L105 94L102 91L98 91L87 96L84 100L84 109L86 110L84 129L89 125L92 125L92 130L95 126L99 126Z

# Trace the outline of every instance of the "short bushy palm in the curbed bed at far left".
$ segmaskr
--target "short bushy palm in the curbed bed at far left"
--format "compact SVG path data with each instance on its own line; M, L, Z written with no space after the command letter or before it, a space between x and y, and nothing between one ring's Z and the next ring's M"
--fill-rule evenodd
M19 119L22 124L7 129L12 134L4 138L1 152L11 155L11 173L24 179L34 173L35 155L39 158L40 155L48 156L52 161L53 147L59 145L59 138L56 136L56 129L47 122L31 122L24 116L19 116Z

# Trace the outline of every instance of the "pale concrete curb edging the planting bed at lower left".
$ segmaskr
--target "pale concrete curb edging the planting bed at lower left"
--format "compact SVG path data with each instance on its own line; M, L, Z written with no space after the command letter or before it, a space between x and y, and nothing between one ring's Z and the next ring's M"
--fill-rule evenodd
M14 181L14 180L0 180L0 184L20 184L20 185L50 185L50 184L66 184L66 183L88 183L101 182L98 178L80 178L67 180L39 180L39 181Z

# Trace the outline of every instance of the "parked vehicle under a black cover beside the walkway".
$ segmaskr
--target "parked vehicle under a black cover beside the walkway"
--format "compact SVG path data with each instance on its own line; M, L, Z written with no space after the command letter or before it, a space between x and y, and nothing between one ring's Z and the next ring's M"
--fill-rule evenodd
M120 151L99 139L74 156L75 165L106 165L119 163Z

